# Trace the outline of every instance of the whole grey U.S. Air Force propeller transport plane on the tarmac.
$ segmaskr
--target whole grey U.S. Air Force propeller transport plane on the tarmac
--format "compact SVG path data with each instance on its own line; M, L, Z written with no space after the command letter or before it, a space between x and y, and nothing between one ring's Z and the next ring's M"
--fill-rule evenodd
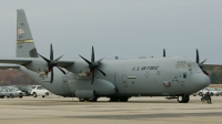
M110 97L111 102L127 102L132 96L172 96L179 103L188 103L190 94L210 84L203 63L186 58L148 59L54 59L52 44L50 58L37 51L22 9L17 10L17 58L0 59L1 69L18 69L50 92L62 96L75 96L80 101L95 102Z

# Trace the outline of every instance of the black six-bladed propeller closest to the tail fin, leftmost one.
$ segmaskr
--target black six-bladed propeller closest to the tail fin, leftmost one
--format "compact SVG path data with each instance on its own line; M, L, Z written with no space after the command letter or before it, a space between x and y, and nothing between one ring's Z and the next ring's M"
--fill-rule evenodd
M38 53L38 54L39 54L39 53ZM51 72L51 80L50 80L50 83L52 83L52 82L53 82L53 76L54 76L54 74L53 74L53 68L57 66L59 60L60 60L63 55L61 55L61 56L59 56L58 59L53 60L52 44L50 44L50 60L48 60L47 58L42 56L41 54L39 54L39 55L48 63L48 71ZM57 66L57 68L58 68L63 74L65 74L65 72L64 72L61 68L59 68L59 66Z

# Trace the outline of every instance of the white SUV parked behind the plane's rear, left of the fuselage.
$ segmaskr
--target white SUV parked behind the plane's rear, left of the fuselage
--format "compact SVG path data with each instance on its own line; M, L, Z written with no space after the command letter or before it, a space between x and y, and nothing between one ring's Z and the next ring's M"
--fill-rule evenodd
M42 87L41 85L34 85L31 89L32 89L31 94L33 97L37 97L37 96L44 97L46 95L49 95L49 91Z

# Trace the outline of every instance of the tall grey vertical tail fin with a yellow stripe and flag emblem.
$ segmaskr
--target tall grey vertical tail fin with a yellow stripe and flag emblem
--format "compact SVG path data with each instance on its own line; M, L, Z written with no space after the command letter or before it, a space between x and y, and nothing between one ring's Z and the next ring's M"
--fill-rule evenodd
M24 10L17 10L17 58L39 58Z

